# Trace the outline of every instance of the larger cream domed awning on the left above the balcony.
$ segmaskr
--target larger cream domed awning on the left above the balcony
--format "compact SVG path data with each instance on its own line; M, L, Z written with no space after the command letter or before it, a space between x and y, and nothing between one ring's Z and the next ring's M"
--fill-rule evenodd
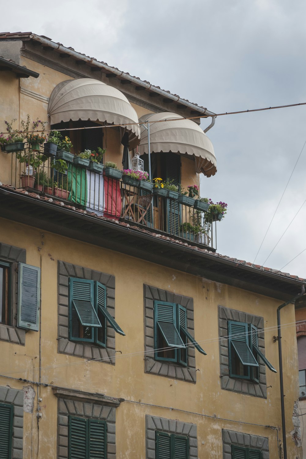
M140 139L138 116L121 91L92 78L66 80L59 83L50 95L48 114L50 123L93 121L103 124L126 124L129 145Z

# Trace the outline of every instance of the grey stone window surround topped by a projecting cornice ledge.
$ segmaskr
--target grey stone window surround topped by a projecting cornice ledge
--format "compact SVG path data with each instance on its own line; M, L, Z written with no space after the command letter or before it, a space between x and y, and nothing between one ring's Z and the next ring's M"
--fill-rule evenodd
M123 398L53 387L58 398L57 458L68 459L68 416L106 421L107 459L116 459L116 408Z

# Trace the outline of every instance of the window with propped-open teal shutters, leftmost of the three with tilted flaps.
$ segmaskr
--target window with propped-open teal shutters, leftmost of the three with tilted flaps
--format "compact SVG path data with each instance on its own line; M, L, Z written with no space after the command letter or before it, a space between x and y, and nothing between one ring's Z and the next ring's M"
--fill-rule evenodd
M95 280L69 278L69 339L106 347L106 323L125 336L106 309L106 286Z

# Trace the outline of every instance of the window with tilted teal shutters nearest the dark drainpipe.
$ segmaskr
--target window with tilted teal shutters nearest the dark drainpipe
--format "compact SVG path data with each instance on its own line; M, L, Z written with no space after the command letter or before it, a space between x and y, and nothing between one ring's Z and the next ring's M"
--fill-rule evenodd
M259 382L258 357L277 373L258 347L257 328L253 324L228 320L229 375Z

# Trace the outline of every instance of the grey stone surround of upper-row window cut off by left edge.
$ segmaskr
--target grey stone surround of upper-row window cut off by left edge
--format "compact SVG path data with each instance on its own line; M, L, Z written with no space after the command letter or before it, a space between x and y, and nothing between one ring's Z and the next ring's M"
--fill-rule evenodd
M12 263L11 273L14 274L13 282L11 283L11 298L12 301L12 323L14 325L0 324L0 341L8 341L14 344L25 345L26 341L26 330L17 328L17 294L18 294L18 274L15 268L17 263L26 263L26 250L20 247L9 246L0 242L0 261L6 261ZM15 265L15 266L14 266Z

